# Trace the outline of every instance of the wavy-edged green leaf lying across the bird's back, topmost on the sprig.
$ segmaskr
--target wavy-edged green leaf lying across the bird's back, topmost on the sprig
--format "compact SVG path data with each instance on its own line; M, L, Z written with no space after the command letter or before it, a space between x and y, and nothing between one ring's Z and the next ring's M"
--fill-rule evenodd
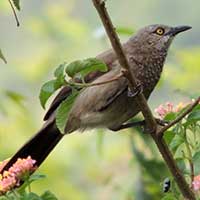
M106 64L102 61L96 58L88 58L83 61L77 60L70 63L67 65L65 72L68 76L73 78L75 75L85 77L87 74L94 71L106 72L107 70Z

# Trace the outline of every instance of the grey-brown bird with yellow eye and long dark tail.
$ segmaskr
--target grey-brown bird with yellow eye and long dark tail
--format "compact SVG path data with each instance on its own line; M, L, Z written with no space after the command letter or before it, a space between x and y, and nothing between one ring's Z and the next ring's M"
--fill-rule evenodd
M189 29L190 26L148 25L122 44L130 69L147 100L160 79L173 39ZM121 72L121 66L112 49L96 58L103 61L109 70L106 73L97 71L89 74L85 78L86 82L104 82ZM68 114L63 134L56 126L55 113L71 92L68 86L61 89L44 117L42 128L11 157L1 172L8 170L18 158L28 156L36 160L36 165L39 167L63 136L76 130L84 131L98 127L118 131L140 112L136 96L130 95L128 80L122 76L104 85L82 89Z

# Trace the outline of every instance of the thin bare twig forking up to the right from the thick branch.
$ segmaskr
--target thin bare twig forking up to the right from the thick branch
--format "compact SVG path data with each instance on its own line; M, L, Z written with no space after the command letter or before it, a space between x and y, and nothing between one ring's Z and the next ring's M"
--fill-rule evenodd
M200 97L198 97L189 107L187 110L185 110L182 114L180 114L175 120L173 120L172 122L170 122L168 125L164 126L163 128L161 128L158 132L157 135L159 137L162 137L164 132L166 130L168 130L169 128L171 128L172 126L174 126L175 124L177 124L179 121L181 121L186 115L188 115L195 107L196 105L200 102Z

